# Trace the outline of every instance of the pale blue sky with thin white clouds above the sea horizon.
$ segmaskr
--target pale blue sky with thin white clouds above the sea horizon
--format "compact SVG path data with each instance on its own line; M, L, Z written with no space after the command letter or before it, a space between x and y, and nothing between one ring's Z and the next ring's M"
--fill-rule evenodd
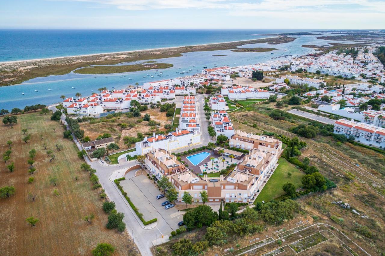
M0 28L385 29L385 0L0 0Z

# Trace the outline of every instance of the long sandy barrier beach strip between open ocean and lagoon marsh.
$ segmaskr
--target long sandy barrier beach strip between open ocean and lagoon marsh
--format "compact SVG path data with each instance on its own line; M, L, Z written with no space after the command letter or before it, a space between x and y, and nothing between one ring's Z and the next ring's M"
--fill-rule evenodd
M180 57L182 53L231 50L240 45L266 43L277 45L294 41L296 38L274 36L251 40L225 43L209 43L184 47L154 48L125 52L95 53L69 57L42 58L33 60L9 61L0 63L0 86L20 84L35 77L64 75L77 68L90 65L115 65L122 62L156 60L161 58Z

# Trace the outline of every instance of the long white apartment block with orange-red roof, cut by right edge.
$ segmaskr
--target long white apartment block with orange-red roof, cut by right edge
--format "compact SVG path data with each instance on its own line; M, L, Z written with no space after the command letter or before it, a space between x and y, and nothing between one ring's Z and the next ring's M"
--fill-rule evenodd
M385 147L385 128L352 120L340 119L334 123L334 133L352 135L354 140L376 148Z

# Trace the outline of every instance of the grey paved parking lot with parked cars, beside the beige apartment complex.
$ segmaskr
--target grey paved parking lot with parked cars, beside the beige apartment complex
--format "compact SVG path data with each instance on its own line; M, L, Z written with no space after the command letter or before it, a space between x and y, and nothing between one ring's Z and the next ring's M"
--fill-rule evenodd
M157 218L157 228L162 234L169 235L178 228L177 223L183 220L183 212L178 212L176 207L164 209L161 203L167 198L156 199L162 191L159 191L146 175L127 178L120 184L146 221Z

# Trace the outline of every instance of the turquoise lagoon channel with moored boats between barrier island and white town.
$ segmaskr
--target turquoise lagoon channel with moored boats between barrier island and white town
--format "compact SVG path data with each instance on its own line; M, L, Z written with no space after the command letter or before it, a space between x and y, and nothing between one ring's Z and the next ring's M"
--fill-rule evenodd
M193 75L195 73L200 73L200 71L197 70L202 70L204 66L239 66L258 62L267 62L271 60L271 57L282 55L290 54L300 56L314 52L312 48L301 47L301 45L328 45L331 42L338 42L317 39L316 37L316 35L300 36L293 42L283 43L280 45L267 45L265 43L259 43L241 46L278 48L278 50L274 50L273 52L245 53L231 52L231 50L218 50L208 52L189 52L183 53L183 56L181 57L158 59L156 60L157 62L171 63L174 65L172 68L161 70L163 72L162 77L157 76L155 70L147 70L107 75L82 75L70 72L65 75L33 78L19 85L0 87L0 109L5 108L10 110L15 107L24 108L24 106L34 105L37 103L50 105L60 101L60 95L71 97L75 96L75 93L79 92L83 96L88 96L91 95L93 91L97 91L100 87L105 86L109 89L112 89L112 87L119 89L126 88L129 85L135 85L135 83L139 83L139 85L141 85L148 81L167 78L172 79L181 76L181 71L189 71L189 69L192 69L192 71L184 75ZM283 57L280 59L285 58L289 57ZM138 62L131 62L129 64L133 63ZM120 63L118 65L127 64L128 63ZM153 75L154 78L147 76L147 74ZM75 87L75 89L72 87ZM35 90L38 90L38 92ZM22 93L24 93L24 95L22 95Z

